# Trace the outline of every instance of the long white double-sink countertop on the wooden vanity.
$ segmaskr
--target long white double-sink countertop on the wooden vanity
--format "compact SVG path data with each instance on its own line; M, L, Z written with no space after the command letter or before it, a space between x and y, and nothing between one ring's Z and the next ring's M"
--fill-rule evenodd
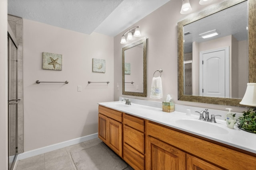
M158 106L159 106L159 103L160 102L158 102L157 104ZM159 107L150 107L151 105L144 106L141 104L134 104L134 103L132 103L132 105L121 106L121 105L124 105L124 102L121 102L121 101L103 102L98 104L101 106L106 106L112 109L116 109L118 111L122 111L124 113L128 113L130 115L141 117L143 119L154 121L162 125L166 125L166 126L173 127L175 129L179 129L188 133L192 133L194 135L211 139L213 141L224 143L232 147L236 147L239 149L247 150L252 153L256 153L256 144L255 144L256 134L255 133L249 133L249 132L243 131L239 129L236 125L234 129L230 129L226 127L226 121L217 119L217 117L216 117L217 123L211 123L211 122L198 120L199 115L193 114L194 112L191 112L192 113L191 115L186 115L186 113L182 113L180 111L174 111L174 112L168 113L168 112L163 112L162 108L159 108ZM183 107L183 106L179 105L178 107ZM186 108L186 106L184 106L184 108ZM215 115L217 114L215 113ZM193 127L190 127L189 125L180 124L176 122L177 120L181 120L181 119L199 121L198 124L202 124L202 129L193 128ZM222 119L223 119L223 116L222 116ZM204 126L204 123L207 123L207 124L205 124ZM213 126L218 126L217 129L221 130L220 133L218 133L217 131L211 131L211 128Z

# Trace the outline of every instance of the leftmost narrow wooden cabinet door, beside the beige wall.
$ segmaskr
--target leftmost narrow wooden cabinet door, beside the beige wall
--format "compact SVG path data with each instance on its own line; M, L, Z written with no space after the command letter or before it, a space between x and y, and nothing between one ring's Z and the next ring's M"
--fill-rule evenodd
M104 143L107 144L107 117L99 114L99 119L98 119L98 137L100 140L102 140Z

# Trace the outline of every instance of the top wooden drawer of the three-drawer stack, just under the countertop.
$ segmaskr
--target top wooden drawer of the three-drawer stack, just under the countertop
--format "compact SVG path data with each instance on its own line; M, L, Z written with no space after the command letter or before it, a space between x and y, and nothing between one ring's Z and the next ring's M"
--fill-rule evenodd
M143 119L134 117L132 115L124 114L124 125L128 125L134 129L137 129L138 131L144 132L144 123L145 121Z

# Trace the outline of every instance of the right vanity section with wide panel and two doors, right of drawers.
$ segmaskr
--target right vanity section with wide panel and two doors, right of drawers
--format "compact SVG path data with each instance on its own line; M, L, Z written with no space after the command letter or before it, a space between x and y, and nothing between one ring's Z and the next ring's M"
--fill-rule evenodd
M242 150L240 152L236 148L225 147L224 144L210 139L190 135L152 121L146 121L146 134L146 169L256 169L255 154ZM180 164L182 166L179 166Z

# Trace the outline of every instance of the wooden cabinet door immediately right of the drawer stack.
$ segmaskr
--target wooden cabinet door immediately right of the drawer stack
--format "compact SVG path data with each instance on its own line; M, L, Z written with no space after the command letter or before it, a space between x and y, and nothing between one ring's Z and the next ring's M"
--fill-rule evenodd
M186 153L167 143L148 136L146 151L146 169L186 170Z

